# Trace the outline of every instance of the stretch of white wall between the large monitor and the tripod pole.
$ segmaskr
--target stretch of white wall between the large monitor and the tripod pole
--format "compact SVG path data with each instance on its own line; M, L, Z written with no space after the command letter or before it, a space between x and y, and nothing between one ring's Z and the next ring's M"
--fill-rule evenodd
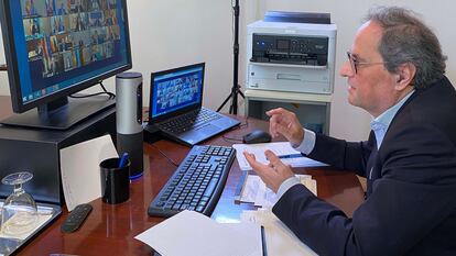
M230 91L231 5L214 0L129 1L133 69L151 71L205 62L204 104L217 109ZM149 88L144 86L144 102Z

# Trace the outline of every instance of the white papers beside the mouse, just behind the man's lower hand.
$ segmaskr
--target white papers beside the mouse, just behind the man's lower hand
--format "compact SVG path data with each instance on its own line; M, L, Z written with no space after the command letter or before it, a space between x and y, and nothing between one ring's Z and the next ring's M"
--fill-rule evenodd
M301 155L300 152L295 151L289 142L272 142L272 143L258 143L258 144L234 144L236 148L236 158L238 159L239 167L241 170L251 170L249 163L243 156L243 152L249 152L254 155L258 162L268 164L269 160L264 156L267 149L272 151L278 155L282 162L292 167L317 167L327 166L317 160L313 160L308 157Z

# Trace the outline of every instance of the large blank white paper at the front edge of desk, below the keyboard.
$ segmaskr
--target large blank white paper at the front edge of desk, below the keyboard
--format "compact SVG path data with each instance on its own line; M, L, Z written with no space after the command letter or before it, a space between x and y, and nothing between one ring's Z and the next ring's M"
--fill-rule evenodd
M260 225L217 223L202 213L187 210L134 238L162 256L262 256Z

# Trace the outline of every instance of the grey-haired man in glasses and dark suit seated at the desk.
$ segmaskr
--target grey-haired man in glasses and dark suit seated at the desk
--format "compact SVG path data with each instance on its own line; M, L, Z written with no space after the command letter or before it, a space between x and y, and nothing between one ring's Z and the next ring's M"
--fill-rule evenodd
M366 177L367 200L347 218L272 152L269 165L245 153L280 197L274 214L319 255L456 255L456 92L436 36L410 11L378 8L347 55L348 102L373 118L367 142L315 135L283 109L267 113L272 136Z

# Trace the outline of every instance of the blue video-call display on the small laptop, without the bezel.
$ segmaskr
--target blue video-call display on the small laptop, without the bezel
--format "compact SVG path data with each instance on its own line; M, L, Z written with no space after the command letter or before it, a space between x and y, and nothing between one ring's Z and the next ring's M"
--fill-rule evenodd
M203 69L186 70L177 73L171 78L165 75L165 79L155 79L155 93L152 116L159 116L176 109L181 109L200 101L200 90L203 84Z

